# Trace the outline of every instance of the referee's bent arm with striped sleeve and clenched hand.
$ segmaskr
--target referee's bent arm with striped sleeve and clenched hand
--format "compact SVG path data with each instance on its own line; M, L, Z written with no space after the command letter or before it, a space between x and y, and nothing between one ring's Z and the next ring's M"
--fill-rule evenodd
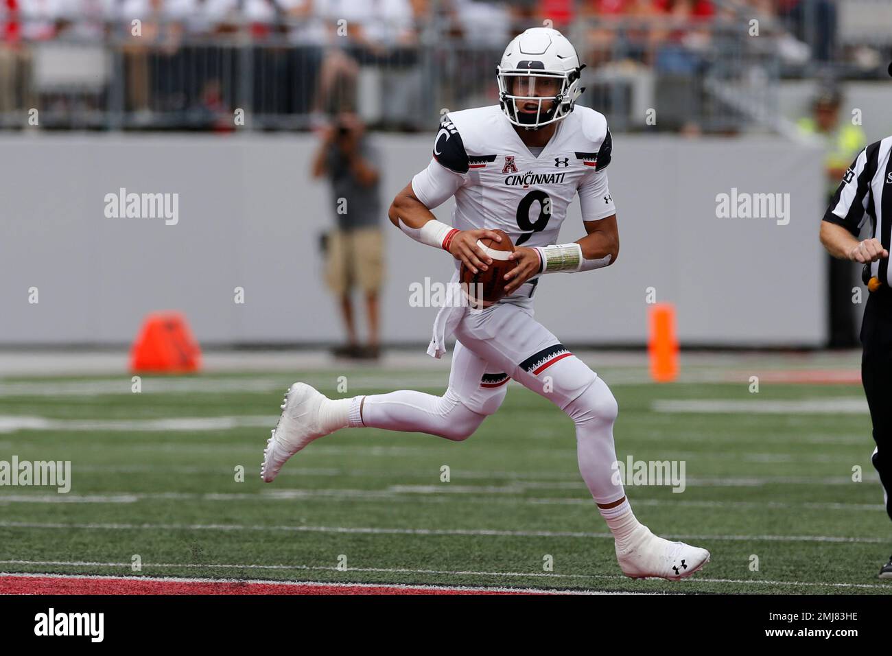
M852 162L821 221L821 243L828 253L840 260L865 263L889 256L879 239L871 237L858 241L857 237L875 168L868 163L871 148L864 148Z

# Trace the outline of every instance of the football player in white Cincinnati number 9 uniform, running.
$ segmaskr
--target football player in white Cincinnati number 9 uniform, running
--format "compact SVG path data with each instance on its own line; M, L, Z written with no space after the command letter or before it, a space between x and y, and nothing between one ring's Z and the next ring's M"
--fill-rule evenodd
M574 420L579 469L615 536L629 577L677 579L709 561L709 552L655 536L632 513L615 483L613 426L617 405L607 384L533 319L542 275L577 273L616 262L616 211L607 188L611 137L603 114L576 105L582 94L574 46L556 29L515 37L497 67L500 104L442 117L434 157L397 196L390 219L408 237L449 252L473 272L491 255L479 240L499 228L516 250L506 295L480 311L447 303L434 321L428 353L456 336L449 387L442 396L400 390L331 400L304 383L285 395L282 416L264 453L261 477L273 480L294 453L339 428L419 431L450 440L471 436L499 409L508 379L541 394ZM579 195L586 236L558 244L558 231ZM432 209L455 197L452 225Z

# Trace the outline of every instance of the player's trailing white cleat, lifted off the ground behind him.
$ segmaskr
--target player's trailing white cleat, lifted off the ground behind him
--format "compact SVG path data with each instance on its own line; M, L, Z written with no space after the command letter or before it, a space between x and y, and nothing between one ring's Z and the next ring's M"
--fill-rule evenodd
M282 465L307 444L328 433L319 426L319 408L326 396L306 383L294 383L285 392L282 416L263 450L260 477L272 482Z

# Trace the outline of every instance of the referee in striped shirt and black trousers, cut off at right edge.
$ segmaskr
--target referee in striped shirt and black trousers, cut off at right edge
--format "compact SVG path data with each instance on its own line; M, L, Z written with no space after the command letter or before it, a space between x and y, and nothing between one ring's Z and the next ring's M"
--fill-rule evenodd
M892 67L890 67L892 69ZM892 72L892 71L890 71ZM880 472L886 512L892 519L892 137L868 145L846 171L821 222L821 243L840 259L863 264L870 290L861 324L861 382L873 422L871 462ZM858 241L871 220L871 237ZM892 557L880 569L892 578Z

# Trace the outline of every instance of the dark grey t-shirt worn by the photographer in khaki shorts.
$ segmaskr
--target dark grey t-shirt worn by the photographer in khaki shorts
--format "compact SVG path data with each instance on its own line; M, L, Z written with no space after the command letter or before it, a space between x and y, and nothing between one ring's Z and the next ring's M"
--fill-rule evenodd
M380 175L377 149L370 143L368 137L360 138L359 155ZM360 185L350 170L350 161L341 153L336 140L328 148L326 170L331 182L332 205L338 228L351 230L377 226L381 221L378 182L368 187ZM342 198L344 202L340 200Z

